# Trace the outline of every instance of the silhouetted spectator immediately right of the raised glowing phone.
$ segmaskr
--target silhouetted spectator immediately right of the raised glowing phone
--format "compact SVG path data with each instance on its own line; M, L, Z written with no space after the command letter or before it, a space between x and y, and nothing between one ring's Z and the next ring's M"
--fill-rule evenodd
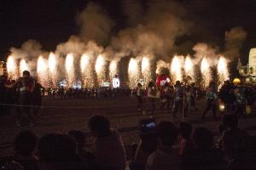
M160 122L156 127L158 148L150 156L146 164L147 170L179 169L180 159L172 144L176 141L178 129L172 122Z

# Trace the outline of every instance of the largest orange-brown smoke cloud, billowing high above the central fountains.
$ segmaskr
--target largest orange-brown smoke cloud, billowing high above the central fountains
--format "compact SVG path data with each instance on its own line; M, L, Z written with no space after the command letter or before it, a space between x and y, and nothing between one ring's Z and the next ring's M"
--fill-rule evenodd
M184 19L185 8L173 1L152 0L143 12L142 22L119 31L118 36L112 38L111 46L126 55L153 54L170 60L176 38L188 33L192 26Z

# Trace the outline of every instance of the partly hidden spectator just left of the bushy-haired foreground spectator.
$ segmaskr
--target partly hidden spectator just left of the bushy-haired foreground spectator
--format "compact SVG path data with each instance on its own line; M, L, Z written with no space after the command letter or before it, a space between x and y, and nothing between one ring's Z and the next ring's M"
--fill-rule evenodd
M90 169L98 169L98 166L96 164L96 156L94 156L92 153L84 148L84 145L86 143L86 134L79 130L72 130L68 133L68 135L75 139L77 143L78 154L86 161L88 161Z

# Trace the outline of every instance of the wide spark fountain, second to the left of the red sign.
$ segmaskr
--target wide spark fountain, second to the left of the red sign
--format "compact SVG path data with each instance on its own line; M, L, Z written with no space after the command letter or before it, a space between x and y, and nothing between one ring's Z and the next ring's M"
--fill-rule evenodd
M128 66L129 87L134 89L139 81L139 65L137 59L131 58Z

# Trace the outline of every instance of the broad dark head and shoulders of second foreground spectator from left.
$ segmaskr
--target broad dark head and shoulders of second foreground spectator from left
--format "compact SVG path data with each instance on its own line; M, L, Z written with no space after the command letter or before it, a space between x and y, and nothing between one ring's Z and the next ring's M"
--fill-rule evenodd
M77 155L74 139L63 134L49 133L38 143L40 170L84 170L87 162Z

